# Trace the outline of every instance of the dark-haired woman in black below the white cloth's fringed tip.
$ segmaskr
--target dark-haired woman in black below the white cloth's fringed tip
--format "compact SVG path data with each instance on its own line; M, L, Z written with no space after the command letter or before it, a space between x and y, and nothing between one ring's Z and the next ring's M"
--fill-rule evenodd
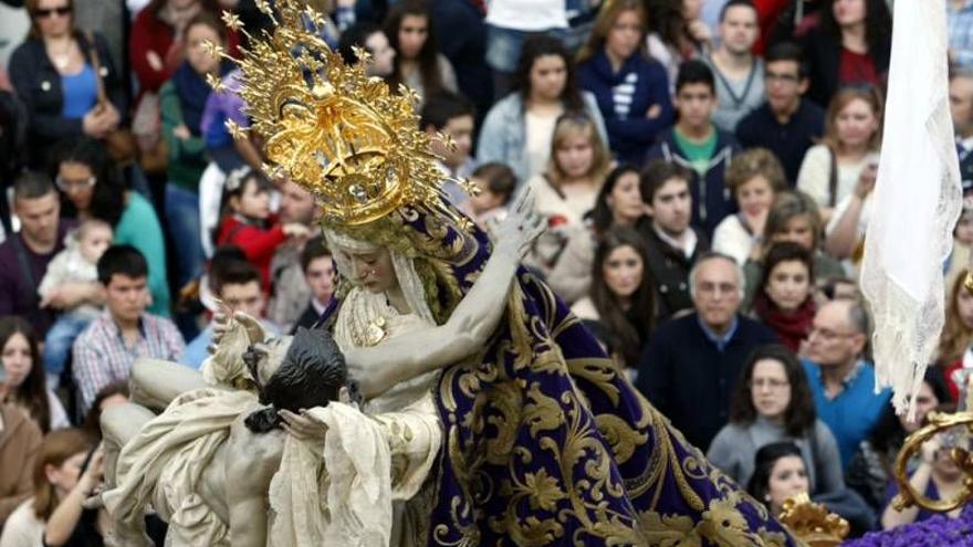
M942 374L929 367L916 393L916 419L910 421L907 415L897 414L891 406L886 407L871 434L861 441L848 462L845 473L848 487L858 492L873 511L880 512L886 505L886 491L894 481L896 457L906 438L923 424L930 410L952 400ZM914 471L918 463L910 462L909 471Z

